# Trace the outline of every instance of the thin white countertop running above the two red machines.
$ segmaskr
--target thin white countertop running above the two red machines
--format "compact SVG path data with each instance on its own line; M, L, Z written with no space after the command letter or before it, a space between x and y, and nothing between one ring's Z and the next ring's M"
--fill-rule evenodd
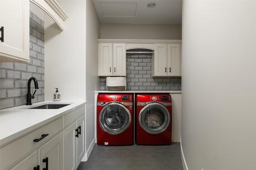
M181 91L171 91L171 90L126 90L126 91L106 91L98 90L95 93L181 93Z

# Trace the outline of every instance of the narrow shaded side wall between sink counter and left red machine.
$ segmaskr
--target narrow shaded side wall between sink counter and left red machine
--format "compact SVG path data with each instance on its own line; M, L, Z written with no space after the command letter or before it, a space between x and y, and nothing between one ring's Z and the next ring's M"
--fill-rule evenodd
M86 124L87 144L90 149L94 141L94 90L99 88L98 77L98 38L100 23L92 1L86 1Z

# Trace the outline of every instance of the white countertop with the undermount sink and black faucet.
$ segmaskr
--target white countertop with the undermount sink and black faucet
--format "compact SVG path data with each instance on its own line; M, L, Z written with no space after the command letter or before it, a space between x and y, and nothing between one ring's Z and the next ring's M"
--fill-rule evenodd
M0 110L0 148L18 137L28 134L86 102L38 102L31 106L18 106ZM70 104L59 109L26 109L44 104Z

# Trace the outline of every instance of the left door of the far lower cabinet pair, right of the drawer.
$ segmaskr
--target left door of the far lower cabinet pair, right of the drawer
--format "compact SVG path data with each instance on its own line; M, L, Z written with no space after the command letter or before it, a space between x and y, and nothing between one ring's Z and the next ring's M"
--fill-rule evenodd
M76 122L64 130L64 170L76 169Z

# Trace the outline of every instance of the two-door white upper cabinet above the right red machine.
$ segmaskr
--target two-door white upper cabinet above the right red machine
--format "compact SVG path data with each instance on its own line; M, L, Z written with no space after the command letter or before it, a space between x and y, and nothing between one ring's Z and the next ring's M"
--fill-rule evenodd
M180 43L155 44L152 69L153 77L181 76Z

